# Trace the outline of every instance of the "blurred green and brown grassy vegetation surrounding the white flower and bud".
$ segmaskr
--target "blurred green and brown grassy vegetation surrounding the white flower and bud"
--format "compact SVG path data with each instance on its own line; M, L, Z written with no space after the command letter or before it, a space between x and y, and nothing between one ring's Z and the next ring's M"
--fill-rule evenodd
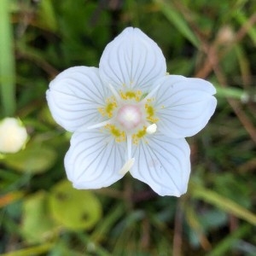
M1 0L0 117L19 117L30 136L0 160L1 255L256 255L255 10L253 0ZM129 175L95 191L67 182L70 134L45 91L67 67L98 67L126 26L160 45L169 73L218 90L210 124L189 138L181 198Z

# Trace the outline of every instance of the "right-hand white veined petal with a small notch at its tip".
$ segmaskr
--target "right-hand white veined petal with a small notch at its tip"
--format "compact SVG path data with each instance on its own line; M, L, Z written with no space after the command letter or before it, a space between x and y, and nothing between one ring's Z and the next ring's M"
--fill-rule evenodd
M168 137L190 137L207 125L217 105L211 83L171 75L156 84L160 84L154 95L159 131Z

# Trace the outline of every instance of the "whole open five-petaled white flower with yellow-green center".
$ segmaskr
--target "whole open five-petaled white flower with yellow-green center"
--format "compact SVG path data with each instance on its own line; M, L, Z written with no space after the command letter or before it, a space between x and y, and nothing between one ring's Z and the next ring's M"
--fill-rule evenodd
M65 157L77 189L99 189L131 172L159 195L186 192L190 137L217 101L202 79L166 74L157 44L128 27L104 49L99 68L71 67L47 91L56 122L72 131Z

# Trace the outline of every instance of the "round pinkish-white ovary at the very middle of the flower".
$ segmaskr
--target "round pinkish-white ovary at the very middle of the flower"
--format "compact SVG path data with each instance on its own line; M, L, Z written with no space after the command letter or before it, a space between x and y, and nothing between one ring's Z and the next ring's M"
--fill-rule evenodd
M136 105L124 105L118 110L117 120L126 131L135 129L142 121L141 109Z

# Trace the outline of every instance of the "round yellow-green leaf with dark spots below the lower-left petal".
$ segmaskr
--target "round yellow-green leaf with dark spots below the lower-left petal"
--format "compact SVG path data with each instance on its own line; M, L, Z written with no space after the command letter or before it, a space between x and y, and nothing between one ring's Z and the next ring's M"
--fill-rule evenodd
M71 230L90 230L102 218L102 205L96 195L73 189L66 180L55 185L49 207L53 218Z

